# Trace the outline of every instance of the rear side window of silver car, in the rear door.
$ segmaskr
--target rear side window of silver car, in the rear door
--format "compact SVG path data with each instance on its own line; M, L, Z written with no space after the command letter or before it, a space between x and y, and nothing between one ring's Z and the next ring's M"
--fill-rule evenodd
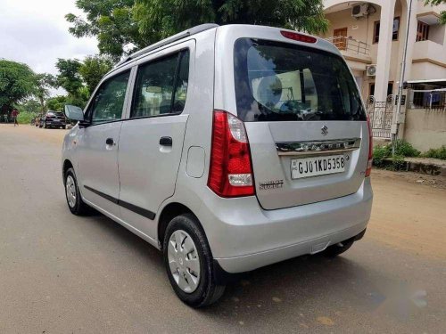
M182 51L141 65L130 118L183 111L189 78L189 52Z

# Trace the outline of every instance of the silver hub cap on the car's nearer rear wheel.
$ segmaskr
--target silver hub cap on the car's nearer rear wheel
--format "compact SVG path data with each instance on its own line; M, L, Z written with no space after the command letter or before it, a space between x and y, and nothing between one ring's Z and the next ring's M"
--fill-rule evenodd
M178 230L172 233L168 246L169 270L179 289L192 293L200 283L200 257L191 236Z

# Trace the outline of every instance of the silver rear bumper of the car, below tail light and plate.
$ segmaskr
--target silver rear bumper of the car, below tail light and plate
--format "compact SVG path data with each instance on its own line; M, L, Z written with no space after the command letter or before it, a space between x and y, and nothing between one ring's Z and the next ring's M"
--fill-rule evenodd
M367 227L372 200L366 178L354 194L294 208L263 210L254 197L214 196L203 203L199 219L221 269L242 273L358 235Z

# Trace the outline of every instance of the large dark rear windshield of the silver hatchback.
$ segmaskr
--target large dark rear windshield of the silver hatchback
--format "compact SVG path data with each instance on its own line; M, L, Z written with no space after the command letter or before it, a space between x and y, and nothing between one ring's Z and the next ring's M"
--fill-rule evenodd
M245 122L367 120L351 72L333 53L240 38L234 70L237 113Z

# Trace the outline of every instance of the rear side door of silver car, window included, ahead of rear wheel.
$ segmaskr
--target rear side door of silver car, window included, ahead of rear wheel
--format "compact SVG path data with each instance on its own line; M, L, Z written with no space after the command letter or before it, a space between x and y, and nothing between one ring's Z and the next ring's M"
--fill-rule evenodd
M175 191L193 49L191 41L138 64L131 108L121 128L121 215L153 239L158 208Z

